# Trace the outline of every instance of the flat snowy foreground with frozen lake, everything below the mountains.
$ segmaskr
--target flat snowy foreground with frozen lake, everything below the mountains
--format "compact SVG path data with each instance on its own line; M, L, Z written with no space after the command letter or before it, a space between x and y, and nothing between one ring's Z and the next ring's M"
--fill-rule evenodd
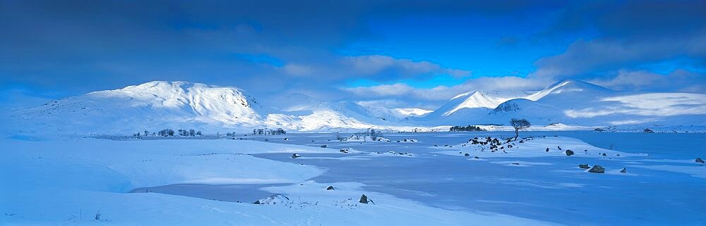
M525 132L510 142L512 132L337 136L5 138L0 225L706 222L706 165L695 162L706 158L702 133Z

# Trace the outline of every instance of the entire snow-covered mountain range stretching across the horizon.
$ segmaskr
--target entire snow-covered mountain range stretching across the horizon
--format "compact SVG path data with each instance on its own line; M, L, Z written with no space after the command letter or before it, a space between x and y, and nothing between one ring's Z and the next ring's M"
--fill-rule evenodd
M157 81L11 111L2 124L13 134L131 134L165 128L248 132L258 127L412 130L506 125L510 118L527 118L534 125L588 127L706 125L706 94L616 92L576 80L539 92L468 92L431 113L353 101L322 102L304 94L285 96L275 105L261 103L237 87Z

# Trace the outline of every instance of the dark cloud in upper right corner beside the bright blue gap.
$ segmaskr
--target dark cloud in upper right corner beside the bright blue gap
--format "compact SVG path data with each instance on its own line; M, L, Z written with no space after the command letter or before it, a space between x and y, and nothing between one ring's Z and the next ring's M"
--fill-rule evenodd
M654 65L706 69L706 1L580 1L554 21L537 38L584 35L563 53L535 61L532 76L609 79Z

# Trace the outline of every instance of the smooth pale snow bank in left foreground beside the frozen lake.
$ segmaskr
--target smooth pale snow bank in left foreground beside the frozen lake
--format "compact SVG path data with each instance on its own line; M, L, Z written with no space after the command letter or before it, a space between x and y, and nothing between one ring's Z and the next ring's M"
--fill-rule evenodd
M247 140L1 142L0 225L547 224L509 215L432 208L364 192L358 183L303 182L325 169L249 155L340 153L335 149ZM138 187L181 183L294 184L267 188L291 200L271 205L126 193ZM328 185L335 190L326 190ZM361 194L368 194L375 204L358 203Z

